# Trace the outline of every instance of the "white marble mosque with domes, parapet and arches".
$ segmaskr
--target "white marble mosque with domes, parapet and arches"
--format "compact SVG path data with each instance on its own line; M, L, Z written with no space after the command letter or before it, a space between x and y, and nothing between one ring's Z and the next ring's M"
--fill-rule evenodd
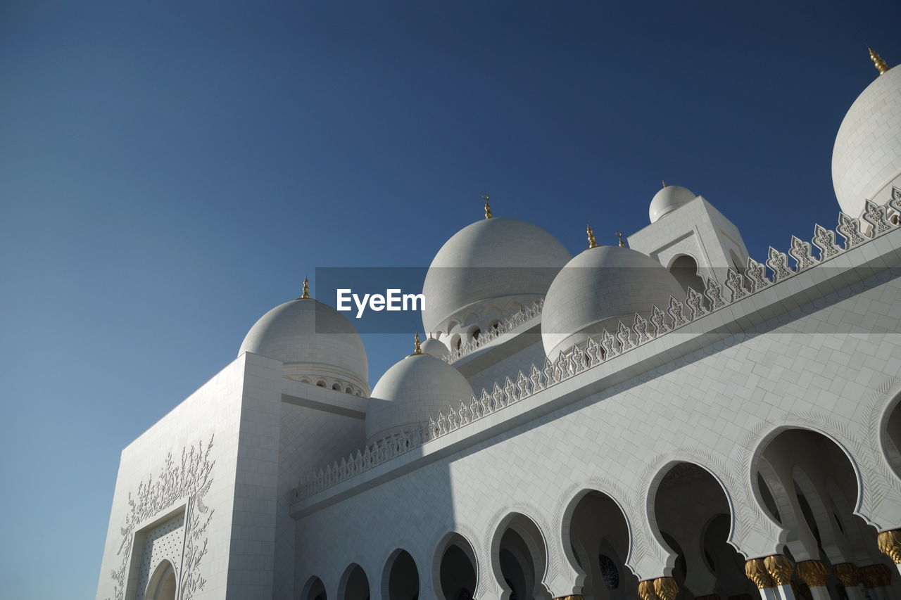
M766 257L682 186L575 257L486 199L371 389L308 288L264 314L123 450L97 599L901 600L901 68L871 58L841 213Z

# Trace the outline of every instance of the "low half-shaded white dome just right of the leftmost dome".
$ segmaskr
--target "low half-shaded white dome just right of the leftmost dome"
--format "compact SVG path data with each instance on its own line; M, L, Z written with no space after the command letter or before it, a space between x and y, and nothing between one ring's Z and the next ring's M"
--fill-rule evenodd
M441 342L439 342L441 343ZM456 368L427 354L413 354L389 368L372 388L366 443L427 422L449 406L469 405L472 387Z

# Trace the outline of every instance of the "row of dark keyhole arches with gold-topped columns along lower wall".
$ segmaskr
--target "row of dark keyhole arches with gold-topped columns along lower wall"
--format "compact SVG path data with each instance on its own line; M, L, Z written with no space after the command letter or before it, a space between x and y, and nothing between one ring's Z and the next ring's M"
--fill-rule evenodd
M883 432L886 457L901 473L901 409L889 414ZM572 500L564 525L581 594L559 598L901 600L901 530L878 533L852 513L858 477L838 445L817 432L787 429L764 444L755 464L751 481L760 504L787 532L781 554L745 560L727 543L732 515L724 487L705 468L676 462L652 486L648 503L660 542L675 556L669 576L639 581L633 575L625 566L630 530L620 505L589 490ZM493 533L490 576L502 600L552 599L542 583L548 533L518 513ZM434 590L421 589L420 568L435 573ZM417 566L407 551L395 550L380 577L370 584L359 565L350 565L338 600L368 600L370 585L382 589L384 600L479 598L475 550L458 533L440 544L433 565ZM326 600L321 582L314 578L301 598Z

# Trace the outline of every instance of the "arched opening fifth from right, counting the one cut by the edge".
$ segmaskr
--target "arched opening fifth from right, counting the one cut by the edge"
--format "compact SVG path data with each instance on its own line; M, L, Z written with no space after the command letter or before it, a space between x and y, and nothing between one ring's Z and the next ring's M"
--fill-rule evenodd
M524 514L513 514L495 533L496 575L505 589L504 598L550 598L542 586L547 550L538 526Z

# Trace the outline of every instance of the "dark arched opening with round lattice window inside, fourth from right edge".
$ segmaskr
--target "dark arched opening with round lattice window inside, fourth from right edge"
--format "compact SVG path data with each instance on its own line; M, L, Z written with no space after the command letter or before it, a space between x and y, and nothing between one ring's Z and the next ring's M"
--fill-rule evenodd
M582 595L596 600L633 598L638 578L624 564L629 525L622 509L609 495L597 491L588 491L573 502L569 523L566 519L564 523L569 527L576 566L586 576Z

